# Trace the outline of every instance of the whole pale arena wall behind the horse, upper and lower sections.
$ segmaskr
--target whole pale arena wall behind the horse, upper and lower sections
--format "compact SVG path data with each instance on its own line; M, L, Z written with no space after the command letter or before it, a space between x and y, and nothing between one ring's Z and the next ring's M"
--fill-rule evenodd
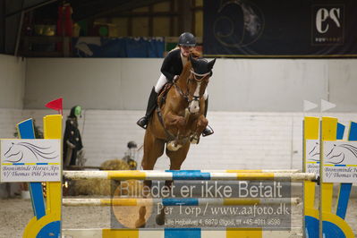
M22 62L1 55L0 61L4 72L0 97L5 97L0 101L2 138L12 138L14 124L29 117L42 126L42 116L55 112L40 108L63 97L65 108L81 105L85 109L80 130L87 165L123 157L129 140L142 144L144 131L135 122L144 114L162 59L30 58ZM331 115L343 123L354 120L354 64L352 59L218 59L209 85L208 120L215 134L192 146L183 168L301 169L302 100L329 99L337 104L331 112L341 111ZM64 110L64 121L68 114ZM164 156L157 169L168 165Z

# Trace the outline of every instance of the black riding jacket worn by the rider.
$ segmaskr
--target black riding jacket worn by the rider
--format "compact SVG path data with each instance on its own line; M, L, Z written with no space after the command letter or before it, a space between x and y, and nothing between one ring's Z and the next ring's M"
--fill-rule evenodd
M174 80L174 75L180 75L183 72L183 61L181 59L180 48L170 51L161 66L161 72L168 81Z

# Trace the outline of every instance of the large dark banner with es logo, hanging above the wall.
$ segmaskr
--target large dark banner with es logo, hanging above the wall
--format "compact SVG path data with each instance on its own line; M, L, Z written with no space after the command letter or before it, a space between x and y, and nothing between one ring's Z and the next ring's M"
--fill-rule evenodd
M205 1L204 55L357 56L357 2Z

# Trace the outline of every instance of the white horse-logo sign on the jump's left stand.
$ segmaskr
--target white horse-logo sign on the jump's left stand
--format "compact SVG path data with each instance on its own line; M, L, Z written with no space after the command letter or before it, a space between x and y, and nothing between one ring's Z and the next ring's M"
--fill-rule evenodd
M1 182L61 181L61 140L0 140Z

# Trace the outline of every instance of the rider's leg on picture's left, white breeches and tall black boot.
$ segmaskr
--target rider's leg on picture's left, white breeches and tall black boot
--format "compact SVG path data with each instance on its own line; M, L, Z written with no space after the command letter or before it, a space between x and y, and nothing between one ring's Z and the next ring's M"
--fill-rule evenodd
M165 75L161 73L160 78L158 78L157 85L151 89L146 113L137 122L137 124L140 127L146 129L146 127L148 126L150 115L152 114L152 112L154 112L155 108L157 107L157 94L160 91L160 89L166 84L166 82L167 80Z

